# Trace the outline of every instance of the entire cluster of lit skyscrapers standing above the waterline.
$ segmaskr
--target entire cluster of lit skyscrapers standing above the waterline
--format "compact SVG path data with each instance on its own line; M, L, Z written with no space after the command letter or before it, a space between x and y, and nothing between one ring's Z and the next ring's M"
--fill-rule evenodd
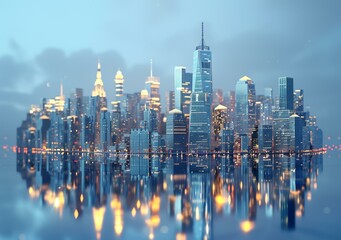
M91 96L77 88L67 98L61 86L60 96L33 106L17 129L18 151L130 153L130 169L139 175L159 153L195 155L189 167L196 171L207 168L201 156L212 152L302 153L322 148L322 130L304 109L303 90L294 90L293 78L278 79L278 97L270 88L257 95L247 76L239 79L235 91L213 90L211 50L203 27L193 73L185 67L174 69L166 112L161 111L160 80L153 75L152 63L141 92L124 91L121 71L114 82L111 110L100 63ZM147 167L141 165L141 156Z

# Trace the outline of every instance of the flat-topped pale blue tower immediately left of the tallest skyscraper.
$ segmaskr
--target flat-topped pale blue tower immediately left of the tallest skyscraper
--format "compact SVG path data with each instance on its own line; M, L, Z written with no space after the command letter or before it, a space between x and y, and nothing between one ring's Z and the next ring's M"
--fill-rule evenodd
M185 67L174 68L174 108L182 111L189 118L192 93L192 73Z

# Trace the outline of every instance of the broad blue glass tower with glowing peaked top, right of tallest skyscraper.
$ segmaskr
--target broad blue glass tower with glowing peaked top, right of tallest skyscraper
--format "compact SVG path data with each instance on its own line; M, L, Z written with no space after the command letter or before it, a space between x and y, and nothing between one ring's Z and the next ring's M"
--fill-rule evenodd
M244 76L236 85L236 123L235 130L239 134L251 136L256 123L256 89L251 78Z

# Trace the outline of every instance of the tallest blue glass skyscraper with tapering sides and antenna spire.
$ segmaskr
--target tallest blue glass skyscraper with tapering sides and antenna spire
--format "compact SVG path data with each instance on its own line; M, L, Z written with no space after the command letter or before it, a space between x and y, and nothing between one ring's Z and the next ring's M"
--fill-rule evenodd
M211 51L204 43L204 25L202 23L201 43L196 47L193 55L192 95L189 120L189 151L191 152L206 152L211 149L211 103ZM197 165L196 162L190 164Z

